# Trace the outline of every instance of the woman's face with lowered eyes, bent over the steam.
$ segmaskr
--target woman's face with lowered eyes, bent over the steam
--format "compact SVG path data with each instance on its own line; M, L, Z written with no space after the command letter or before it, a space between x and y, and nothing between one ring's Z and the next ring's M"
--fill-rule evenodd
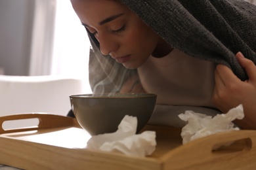
M114 0L71 0L77 16L95 34L100 51L128 69L136 69L161 38L134 12Z

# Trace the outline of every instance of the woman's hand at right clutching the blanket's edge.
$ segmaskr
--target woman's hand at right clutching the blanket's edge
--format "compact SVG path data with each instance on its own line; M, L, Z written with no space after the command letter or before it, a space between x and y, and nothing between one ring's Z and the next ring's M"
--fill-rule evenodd
M241 52L236 58L245 69L248 80L240 80L226 65L217 65L213 103L224 113L242 104L245 117L236 120L236 124L244 129L256 129L256 66Z

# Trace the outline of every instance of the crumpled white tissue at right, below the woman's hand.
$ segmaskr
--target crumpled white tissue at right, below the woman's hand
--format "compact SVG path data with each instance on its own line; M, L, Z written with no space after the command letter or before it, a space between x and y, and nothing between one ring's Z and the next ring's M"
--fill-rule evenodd
M213 133L239 130L239 127L235 127L232 121L244 118L244 109L242 105L238 105L238 107L230 109L226 114L217 114L213 118L212 116L206 116L205 114L187 110L184 114L179 114L179 118L188 122L186 126L182 127L181 131L182 143L186 144L189 141ZM228 145L228 143L224 145ZM216 149L218 147L219 146L216 146Z

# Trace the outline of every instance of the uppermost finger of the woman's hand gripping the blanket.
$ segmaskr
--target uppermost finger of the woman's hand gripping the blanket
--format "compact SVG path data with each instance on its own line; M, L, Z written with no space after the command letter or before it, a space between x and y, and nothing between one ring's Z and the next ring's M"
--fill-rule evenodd
M256 66L253 63L253 61L245 58L241 52L238 52L236 54L236 58L238 59L240 65L245 69L245 72L247 73L249 80L256 83Z

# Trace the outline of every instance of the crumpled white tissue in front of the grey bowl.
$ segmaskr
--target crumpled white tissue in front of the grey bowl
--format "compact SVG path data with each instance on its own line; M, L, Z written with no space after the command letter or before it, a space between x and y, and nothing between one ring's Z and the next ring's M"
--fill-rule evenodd
M136 134L137 117L125 116L114 133L92 136L87 148L106 152L119 152L129 156L148 156L156 150L156 132Z

